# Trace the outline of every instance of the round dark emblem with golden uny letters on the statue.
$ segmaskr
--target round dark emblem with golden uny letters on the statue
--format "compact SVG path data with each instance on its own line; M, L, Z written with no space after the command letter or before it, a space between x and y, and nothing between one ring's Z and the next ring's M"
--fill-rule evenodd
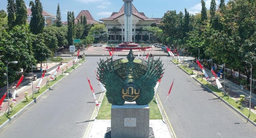
M121 89L121 95L123 100L127 102L133 102L136 101L136 99L139 97L140 89L135 84L127 84L124 85Z

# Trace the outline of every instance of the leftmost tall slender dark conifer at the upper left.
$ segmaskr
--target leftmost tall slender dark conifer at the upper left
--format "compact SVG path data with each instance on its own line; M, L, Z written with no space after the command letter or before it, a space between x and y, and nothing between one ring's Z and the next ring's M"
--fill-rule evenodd
M15 2L14 0L7 0L7 12L8 12L8 26L9 30L11 30L14 27L14 21L15 21Z

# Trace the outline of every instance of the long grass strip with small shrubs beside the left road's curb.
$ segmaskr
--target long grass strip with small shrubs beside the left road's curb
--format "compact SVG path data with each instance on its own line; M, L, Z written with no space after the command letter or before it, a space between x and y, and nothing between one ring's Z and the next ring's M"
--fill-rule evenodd
M58 82L58 80L60 80L61 78L63 78L64 75L59 75L57 76L56 80L49 82L49 86L52 86L53 84L55 84L56 82ZM34 98L37 98L39 95L42 94L42 92L44 92L47 89L46 85L42 86L39 90L39 93L34 94ZM25 91L24 91L25 92ZM32 94L29 96L29 100L26 101L26 99L24 99L22 102L20 102L19 104L17 104L15 107L13 107L13 110L10 109L10 114L7 115L8 111L6 111L6 113L4 115L2 115L0 117L0 125L2 125L5 121L7 121L8 119L10 119L14 114L16 114L18 111L20 111L23 107L25 107L27 104L29 104L31 101L33 101L32 99Z

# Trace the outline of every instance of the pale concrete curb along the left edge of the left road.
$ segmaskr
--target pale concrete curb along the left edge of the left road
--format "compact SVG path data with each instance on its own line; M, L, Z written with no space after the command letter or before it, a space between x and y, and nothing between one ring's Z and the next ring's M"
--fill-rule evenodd
M80 64L77 66L79 67ZM70 72L72 72L73 70L71 70ZM61 81L63 78L65 78L67 75L65 75L64 77L62 77L59 81ZM55 86L58 82L54 83L51 87ZM35 103L37 99L39 99L40 97L42 97L48 90L51 89L51 87L48 87L44 92L42 92L41 95L37 96L34 100L32 100L30 103L28 103L25 107L23 107L20 111L18 111L16 114L14 114L11 118L9 118L7 121L5 121L2 125L0 125L0 129L2 129L5 125L7 125L11 120L13 120L16 116L18 116L20 113L22 113L25 109L27 109L27 107L29 107L31 104Z

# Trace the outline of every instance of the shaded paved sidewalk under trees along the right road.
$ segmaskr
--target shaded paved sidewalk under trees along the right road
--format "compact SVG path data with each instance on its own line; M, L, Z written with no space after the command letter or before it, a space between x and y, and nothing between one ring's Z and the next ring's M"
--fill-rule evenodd
M196 74L198 73L198 64L193 64L190 61L186 61L189 64L189 68L195 67L195 72ZM199 68L199 74L203 74L201 69ZM207 68L204 68L208 76L210 77L209 83L211 84L211 70L208 70ZM203 78L204 80L205 77ZM219 79L222 86L224 87L224 79ZM215 77L213 75L212 77L212 84L216 85ZM224 91L224 88L220 88L221 91ZM238 100L240 98L240 95L245 95L245 101L244 101L244 106L246 108L249 108L249 98L250 98L250 91L246 89L241 89L240 85L237 85L234 82L229 81L228 79L225 79L225 92L229 93L229 97L233 98L234 100ZM256 94L251 93L251 111L256 113L256 110L254 110L254 107L256 106Z

